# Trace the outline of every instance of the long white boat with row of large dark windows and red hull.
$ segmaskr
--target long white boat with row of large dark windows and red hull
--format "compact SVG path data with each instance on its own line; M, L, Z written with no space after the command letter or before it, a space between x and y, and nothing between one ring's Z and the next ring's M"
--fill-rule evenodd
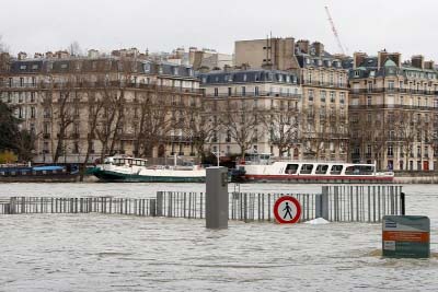
M232 182L392 183L393 172L376 172L376 164L273 161L270 154L251 154L237 164Z

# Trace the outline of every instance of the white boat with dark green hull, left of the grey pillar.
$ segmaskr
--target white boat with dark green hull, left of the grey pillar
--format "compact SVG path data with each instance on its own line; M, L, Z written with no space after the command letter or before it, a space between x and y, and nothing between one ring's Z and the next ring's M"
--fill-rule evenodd
M92 172L102 182L120 183L203 183L205 168L198 165L150 165L147 160L112 156Z

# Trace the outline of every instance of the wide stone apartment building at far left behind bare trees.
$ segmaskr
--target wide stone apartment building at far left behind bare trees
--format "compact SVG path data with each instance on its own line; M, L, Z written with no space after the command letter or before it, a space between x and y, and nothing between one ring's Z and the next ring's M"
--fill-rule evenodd
M34 135L36 163L196 155L191 125L201 92L194 70L150 61L136 49L20 54L1 67L0 97Z

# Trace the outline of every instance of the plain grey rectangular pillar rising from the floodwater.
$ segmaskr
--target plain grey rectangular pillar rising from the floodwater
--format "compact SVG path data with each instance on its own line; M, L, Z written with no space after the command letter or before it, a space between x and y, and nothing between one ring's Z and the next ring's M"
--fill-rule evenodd
M227 167L207 168L206 227L228 229L228 172Z

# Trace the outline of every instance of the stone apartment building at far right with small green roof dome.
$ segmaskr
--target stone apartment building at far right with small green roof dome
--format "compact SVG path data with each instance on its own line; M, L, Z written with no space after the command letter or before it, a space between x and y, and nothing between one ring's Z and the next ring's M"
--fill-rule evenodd
M379 170L437 168L438 72L433 61L356 52L349 84L354 162L376 161Z

